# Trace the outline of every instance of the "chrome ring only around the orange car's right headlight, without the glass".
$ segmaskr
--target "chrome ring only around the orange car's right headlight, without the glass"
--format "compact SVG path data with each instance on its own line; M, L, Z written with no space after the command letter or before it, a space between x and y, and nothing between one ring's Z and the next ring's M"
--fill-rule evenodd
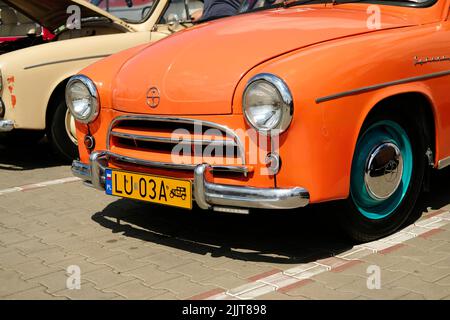
M249 115L247 113L248 106L246 106L245 98L247 96L247 93L252 88L252 85L254 85L257 82L265 81L275 87L277 89L280 98L283 102L282 105L282 113L281 118L279 121L277 121L277 124L270 128L270 129L264 129L264 128L258 128L253 121L249 118ZM291 125L293 116L294 116L294 99L292 98L292 93L289 90L289 87L284 82L283 79L280 77L272 74L272 73L260 73L255 76L253 76L248 82L244 90L244 94L242 95L242 111L244 113L245 121L249 126L256 129L259 133L264 135L279 135L283 132L285 132L289 126Z

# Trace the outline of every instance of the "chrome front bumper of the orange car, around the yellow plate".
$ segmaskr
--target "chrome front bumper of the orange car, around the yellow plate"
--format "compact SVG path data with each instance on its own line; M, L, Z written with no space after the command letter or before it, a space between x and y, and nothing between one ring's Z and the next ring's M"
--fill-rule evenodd
M72 173L94 188L104 191L105 170L108 167L108 160L111 158L149 167L164 168L170 166L170 164L149 163L103 151L92 153L90 164L74 161ZM224 167L201 164L191 169L194 171L193 193L195 202L205 210L245 212L250 208L295 209L309 204L309 193L304 188L269 189L215 184L209 182L212 172L215 170L223 171L225 170ZM242 168L239 170L242 171Z

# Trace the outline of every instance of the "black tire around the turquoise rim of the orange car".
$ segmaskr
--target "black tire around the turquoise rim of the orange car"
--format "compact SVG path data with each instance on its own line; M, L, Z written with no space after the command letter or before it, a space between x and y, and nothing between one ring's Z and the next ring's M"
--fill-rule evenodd
M363 215L355 204L352 194L350 194L346 201L340 202L339 216L342 227L356 242L373 241L394 233L408 221L408 218L411 215L416 214L415 211L419 210L415 205L422 190L425 168L427 165L425 156L426 141L422 134L423 125L420 120L411 116L411 113L405 114L403 112L398 112L398 109L396 111L397 112L384 112L372 116L366 121L361 129L358 141L371 125L379 123L380 121L389 120L400 125L407 133L411 143L413 160L410 183L407 189L405 188L406 193L396 209L381 219L369 219ZM353 161L355 161L355 156L356 154L354 155Z

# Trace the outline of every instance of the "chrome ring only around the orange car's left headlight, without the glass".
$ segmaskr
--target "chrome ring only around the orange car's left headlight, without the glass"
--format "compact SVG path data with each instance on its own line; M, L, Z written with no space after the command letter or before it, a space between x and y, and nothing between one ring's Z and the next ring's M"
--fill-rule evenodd
M89 116L87 116L85 118L80 118L76 114L73 103L72 103L72 99L70 99L70 96L69 96L69 89L75 83L83 84L88 89L89 94L90 94L92 110L90 111ZM76 76L73 76L72 78L70 78L70 80L66 86L66 95L65 96L66 96L67 107L69 108L70 113L74 116L74 118L78 122L81 122L84 124L89 124L97 119L97 117L100 113L98 91L97 91L97 87L95 86L95 83L89 77L87 77L85 75L76 75Z

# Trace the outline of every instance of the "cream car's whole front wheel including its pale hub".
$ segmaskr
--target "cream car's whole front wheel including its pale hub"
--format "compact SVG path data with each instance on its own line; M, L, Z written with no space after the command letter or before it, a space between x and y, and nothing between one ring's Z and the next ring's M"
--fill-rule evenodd
M53 149L62 158L72 161L78 157L75 119L64 101L61 101L55 110L47 136Z

